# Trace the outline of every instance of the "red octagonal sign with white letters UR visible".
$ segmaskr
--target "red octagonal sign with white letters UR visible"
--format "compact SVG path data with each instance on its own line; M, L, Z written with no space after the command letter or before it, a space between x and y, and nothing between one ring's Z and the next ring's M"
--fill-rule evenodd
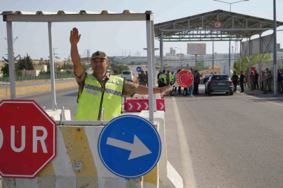
M34 178L56 156L56 123L33 100L0 102L0 174Z

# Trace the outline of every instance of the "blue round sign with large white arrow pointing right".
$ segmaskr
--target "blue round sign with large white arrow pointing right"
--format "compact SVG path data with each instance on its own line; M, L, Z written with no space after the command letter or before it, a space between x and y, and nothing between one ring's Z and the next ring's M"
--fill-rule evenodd
M112 173L122 178L138 178L158 164L160 136L155 127L142 117L119 116L100 132L98 153Z

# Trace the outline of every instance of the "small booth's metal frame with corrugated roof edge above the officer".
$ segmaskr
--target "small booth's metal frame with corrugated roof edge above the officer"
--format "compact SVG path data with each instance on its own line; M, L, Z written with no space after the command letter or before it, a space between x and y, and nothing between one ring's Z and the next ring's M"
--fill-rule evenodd
M153 86L155 86L155 50L154 50L154 24L153 13L133 13L130 10L124 10L123 13L112 13L108 10L102 10L101 13L81 10L79 13L71 13L59 10L57 13L48 13L37 11L36 13L27 13L22 11L4 11L3 22L7 25L8 42L8 60L10 77L10 99L16 99L15 93L15 62L13 57L13 22L47 22L49 34L49 57L50 74L52 84L52 110L56 110L56 91L54 77L54 57L52 45L52 22L121 22L121 21L145 21L146 22L146 43L148 59L148 103L149 120L153 122L153 111L156 111L156 96L153 95Z

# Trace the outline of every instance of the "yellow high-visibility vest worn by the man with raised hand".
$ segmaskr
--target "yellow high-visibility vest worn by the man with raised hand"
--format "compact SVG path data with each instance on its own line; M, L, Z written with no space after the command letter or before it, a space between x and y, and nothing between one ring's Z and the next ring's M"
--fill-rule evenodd
M123 82L122 78L111 76L103 90L100 82L92 74L88 74L78 100L75 120L100 120L102 109L105 109L105 120L120 116Z

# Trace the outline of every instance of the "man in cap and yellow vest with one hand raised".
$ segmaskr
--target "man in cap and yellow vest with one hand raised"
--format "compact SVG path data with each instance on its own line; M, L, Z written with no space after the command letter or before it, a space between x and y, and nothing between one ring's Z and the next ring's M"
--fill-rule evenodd
M128 97L135 95L135 93L148 95L146 86L138 86L121 77L108 75L106 68L109 61L105 52L93 53L91 56L93 73L84 72L77 49L80 38L78 29L73 28L70 31L71 58L75 79L79 85L75 120L101 120L102 109L105 109L105 120L112 120L112 118L121 115L122 95ZM169 86L153 88L153 93L162 93L167 88Z

